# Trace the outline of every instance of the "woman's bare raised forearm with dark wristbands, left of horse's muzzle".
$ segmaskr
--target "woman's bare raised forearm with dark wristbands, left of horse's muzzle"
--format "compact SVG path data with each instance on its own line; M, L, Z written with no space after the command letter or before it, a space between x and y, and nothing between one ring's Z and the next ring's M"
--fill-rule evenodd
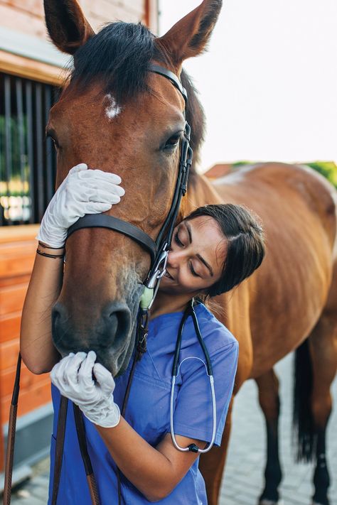
M47 249L47 254L62 255L63 248ZM51 337L51 309L58 299L63 279L63 259L36 254L21 317L20 352L33 374L50 371L60 359Z

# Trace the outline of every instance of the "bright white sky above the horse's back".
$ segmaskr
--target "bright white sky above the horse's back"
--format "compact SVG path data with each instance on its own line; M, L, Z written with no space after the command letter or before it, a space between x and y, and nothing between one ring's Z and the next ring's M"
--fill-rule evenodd
M199 0L159 0L163 35ZM208 53L186 60L215 163L337 161L337 1L225 0Z

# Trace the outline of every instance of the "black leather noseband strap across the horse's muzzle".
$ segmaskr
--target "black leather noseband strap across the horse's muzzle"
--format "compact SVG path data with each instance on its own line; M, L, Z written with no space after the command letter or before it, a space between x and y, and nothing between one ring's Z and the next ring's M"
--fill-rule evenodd
M133 224L122 221L122 219L118 219L118 217L108 216L106 214L86 214L68 229L67 238L69 238L73 232L77 232L77 229L82 228L109 228L114 232L127 235L127 237L134 239L140 246L145 247L145 249L149 251L151 264L154 263L156 259L156 244L151 237Z

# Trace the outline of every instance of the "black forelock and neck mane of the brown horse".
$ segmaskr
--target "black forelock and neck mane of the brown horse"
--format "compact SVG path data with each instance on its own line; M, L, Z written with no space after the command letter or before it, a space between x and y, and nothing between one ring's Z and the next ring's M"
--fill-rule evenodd
M85 89L99 79L105 93L113 93L122 104L139 93L149 92L147 84L151 60L170 65L169 55L156 37L141 23L109 23L75 53L75 66L69 85ZM186 120L191 126L194 165L199 160L205 133L205 114L188 74L181 72L181 82L188 92ZM191 174L195 174L193 168Z

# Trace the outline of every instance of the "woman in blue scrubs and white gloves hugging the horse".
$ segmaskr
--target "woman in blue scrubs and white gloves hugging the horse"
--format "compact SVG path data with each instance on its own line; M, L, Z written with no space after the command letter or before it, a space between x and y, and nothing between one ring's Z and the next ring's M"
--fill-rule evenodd
M105 212L112 203L119 202L124 193L119 183L118 176L87 170L82 164L70 170L55 193L38 234L36 263L23 308L21 354L31 371L51 370L54 434L60 394L84 413L87 445L102 505L118 503L116 465L122 472L126 504L205 504L198 452L181 452L170 435L171 372L178 327L193 298L205 299L231 290L260 266L264 257L262 227L245 207L230 204L201 207L178 224L166 275L151 309L148 350L137 363L122 418L119 409L130 365L114 382L109 371L95 362L95 352L71 353L60 360L50 332L50 312L62 284L67 229L82 215ZM195 310L213 366L215 445L220 445L234 385L238 344L205 305L199 303ZM31 317L32 313L35 317ZM173 398L174 433L180 447L203 448L212 440L212 397L204 361L188 317ZM70 406L58 503L89 505ZM54 450L52 438L52 477ZM50 495L51 489L50 479Z

